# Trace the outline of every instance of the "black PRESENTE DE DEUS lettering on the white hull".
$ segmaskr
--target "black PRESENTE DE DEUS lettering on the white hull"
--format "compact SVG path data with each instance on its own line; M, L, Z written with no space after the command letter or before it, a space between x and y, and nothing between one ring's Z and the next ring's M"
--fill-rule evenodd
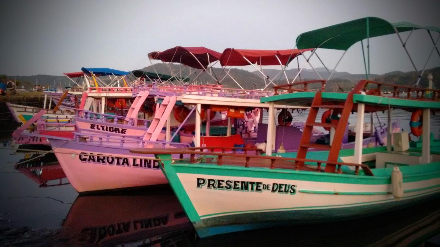
M294 184L264 184L262 182L251 181L197 178L197 188L202 189L203 187L213 190L237 190L248 192L263 192L263 190L270 190L272 193L290 195L297 193L297 186Z

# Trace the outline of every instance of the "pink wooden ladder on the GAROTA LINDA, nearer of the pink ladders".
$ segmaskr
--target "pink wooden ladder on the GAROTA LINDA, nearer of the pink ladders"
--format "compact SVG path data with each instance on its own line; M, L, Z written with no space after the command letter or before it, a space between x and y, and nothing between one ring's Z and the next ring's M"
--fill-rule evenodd
M160 107L156 110L156 113L154 114L153 121L150 124L150 127L147 130L147 133L145 133L145 136L143 136L144 141L156 141L158 140L159 134L162 131L162 128L164 127L168 116L171 114L172 109L174 108L174 104L176 104L177 97L165 97L162 101ZM147 145L145 145L145 148L152 148L154 143L148 142Z

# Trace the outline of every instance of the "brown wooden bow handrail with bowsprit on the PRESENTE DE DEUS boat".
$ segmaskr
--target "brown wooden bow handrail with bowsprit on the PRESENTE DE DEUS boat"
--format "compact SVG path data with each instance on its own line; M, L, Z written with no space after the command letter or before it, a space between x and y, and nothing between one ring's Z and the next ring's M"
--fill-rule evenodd
M211 149L215 147L196 147L195 149ZM194 148L193 148L194 149ZM183 158L183 154L190 154L190 163L195 163L195 155L211 155L211 156L217 156L217 165L222 165L222 158L223 157L234 157L234 158L246 158L245 167L249 167L250 163L249 160L251 158L255 159L269 159L271 160L270 168L275 168L275 161L295 161L295 170L299 170L300 167L297 162L311 162L316 163L317 165L317 172L321 171L321 164L331 164L337 166L337 173L341 174L341 166L354 166L355 167L355 175L359 175L359 167L362 168L362 170L365 172L366 175L374 176L371 169L368 167L368 165L364 164L354 164L354 163L345 163L345 162L334 162L334 161L319 161L319 160L312 160L312 159L299 159L299 158L288 158L288 157L276 157L276 156L262 156L262 155L251 155L251 154L233 154L233 153L219 153L219 152L202 152L202 151L194 151L190 148L173 148L173 149L157 149L157 148L151 148L151 149L132 149L130 150L131 153L135 154L180 154L180 158Z

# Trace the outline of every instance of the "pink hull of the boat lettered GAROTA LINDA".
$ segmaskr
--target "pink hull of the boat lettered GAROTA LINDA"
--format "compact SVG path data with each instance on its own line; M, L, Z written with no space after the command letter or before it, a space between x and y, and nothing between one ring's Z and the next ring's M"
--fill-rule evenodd
M126 147L87 145L48 138L73 188L79 193L168 183L154 156L133 158ZM113 157L104 157L113 156Z

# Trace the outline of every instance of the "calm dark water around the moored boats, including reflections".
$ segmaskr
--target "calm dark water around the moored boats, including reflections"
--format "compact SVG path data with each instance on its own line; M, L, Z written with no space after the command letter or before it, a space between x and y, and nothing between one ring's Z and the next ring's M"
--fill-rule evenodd
M307 112L293 114L298 121L306 117ZM378 113L378 117L386 122L386 112ZM393 118L400 119L401 127L409 130L407 112L396 110ZM355 121L356 115L352 115L350 122ZM437 137L440 116L432 116L431 122ZM16 170L14 165L24 154L0 149L0 157L0 245L406 246L426 240L440 244L440 199L370 218L260 229L200 240L169 186L78 196L70 184L40 187L32 176ZM68 183L67 179L61 182ZM56 180L48 185L58 183ZM142 220L159 223L143 228ZM9 229L22 227L32 230L19 233ZM11 242L14 237L17 242Z

